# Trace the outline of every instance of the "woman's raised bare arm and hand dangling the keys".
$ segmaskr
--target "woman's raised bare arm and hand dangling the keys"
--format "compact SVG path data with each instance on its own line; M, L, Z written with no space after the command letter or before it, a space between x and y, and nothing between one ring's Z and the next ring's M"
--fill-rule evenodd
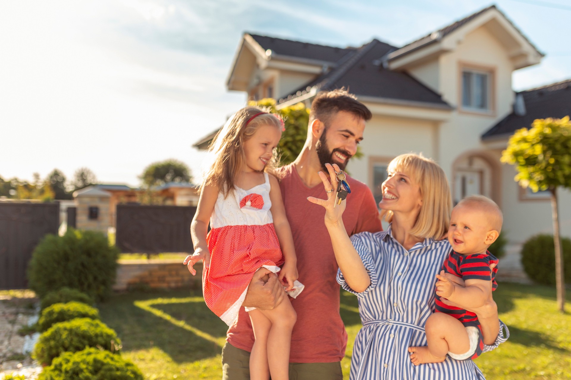
M355 250L355 247L353 247L351 239L349 239L349 235L347 235L347 231L345 230L343 218L341 216L345 210L346 202L341 202L340 205L335 205L335 208L333 207L337 189L335 171L340 170L339 166L337 166L337 164L334 166L325 164L325 166L329 171L329 178L331 178L331 181L329 181L327 176L321 171L319 172L319 177L321 178L321 181L323 181L325 191L329 191L331 189L333 189L333 191L327 194L327 200L314 197L309 197L307 200L325 208L325 227L327 227L327 231L331 238L331 244L333 246L333 252L335 253L337 265L339 265L339 269L341 273L343 273L343 277L345 278L345 281L347 281L347 285L349 285L349 287L354 291L361 293L371 285L371 277L369 277L361 257ZM335 171L333 171L334 167Z

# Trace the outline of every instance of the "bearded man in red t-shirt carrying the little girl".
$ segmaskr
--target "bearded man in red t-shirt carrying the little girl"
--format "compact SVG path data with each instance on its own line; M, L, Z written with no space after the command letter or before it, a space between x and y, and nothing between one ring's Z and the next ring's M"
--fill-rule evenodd
M357 152L363 140L365 121L371 112L356 97L344 90L320 92L309 113L307 140L296 160L280 168L280 187L291 226L299 280L304 291L291 299L297 313L289 356L290 379L342 379L341 359L345 356L347 333L339 315L339 284L335 280L337 262L331 239L323 223L323 207L312 205L307 197L327 198L317 174L326 163L341 169ZM343 214L349 235L381 230L371 190L348 177L351 194ZM264 271L252 279L244 307L272 309L284 296L274 273L263 283ZM227 333L222 350L223 379L250 379L249 358L254 333L248 314L240 308L238 319Z

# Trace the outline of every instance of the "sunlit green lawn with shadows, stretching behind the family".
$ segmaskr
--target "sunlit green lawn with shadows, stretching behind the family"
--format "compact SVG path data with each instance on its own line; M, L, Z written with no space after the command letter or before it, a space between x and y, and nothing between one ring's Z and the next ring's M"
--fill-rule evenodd
M502 283L494 298L511 336L477 359L486 378L571 378L571 314L557 312L554 289ZM199 292L128 293L97 306L102 320L122 339L123 356L147 379L220 378L226 324L206 307ZM571 303L567 309L571 311ZM341 316L349 335L341 362L348 378L361 322L356 297L347 292L341 293Z

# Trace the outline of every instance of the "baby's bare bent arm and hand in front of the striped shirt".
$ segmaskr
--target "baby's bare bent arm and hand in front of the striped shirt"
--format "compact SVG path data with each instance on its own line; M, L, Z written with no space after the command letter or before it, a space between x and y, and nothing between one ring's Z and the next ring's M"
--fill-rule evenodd
M436 275L436 294L464 308L479 308L486 303L492 291L491 280L468 279L465 287L460 287L449 280L444 271Z

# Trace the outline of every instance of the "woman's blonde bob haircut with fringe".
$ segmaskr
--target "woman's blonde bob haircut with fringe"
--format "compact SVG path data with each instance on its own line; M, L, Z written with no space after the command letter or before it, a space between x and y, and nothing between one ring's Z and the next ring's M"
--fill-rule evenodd
M410 234L417 238L441 239L448 231L452 198L444 171L436 162L421 154L401 154L391 161L388 173L401 171L415 179L420 186L423 205ZM393 212L383 210L381 218L392 222Z

